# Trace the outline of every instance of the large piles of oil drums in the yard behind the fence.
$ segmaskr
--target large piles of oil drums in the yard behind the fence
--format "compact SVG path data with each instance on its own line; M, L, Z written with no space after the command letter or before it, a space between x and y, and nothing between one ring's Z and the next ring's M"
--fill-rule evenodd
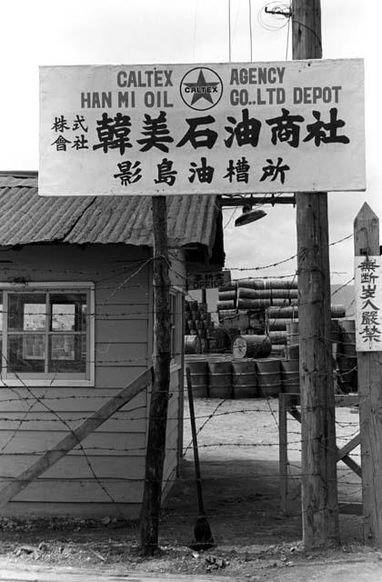
M246 279L220 287L217 313L219 326L214 329L210 317L200 315L206 314L205 306L190 302L186 310L190 337L205 340L209 352L186 361L196 396L276 397L280 392L299 392L296 278ZM333 368L338 386L349 392L357 390L357 356L355 322L345 315L344 306L331 306Z

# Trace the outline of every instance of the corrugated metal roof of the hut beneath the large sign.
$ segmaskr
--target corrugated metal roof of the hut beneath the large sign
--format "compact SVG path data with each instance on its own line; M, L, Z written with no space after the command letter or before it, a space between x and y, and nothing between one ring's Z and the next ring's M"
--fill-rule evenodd
M37 176L0 173L0 245L62 242L153 246L151 196L38 196ZM171 247L215 242L216 196L168 196Z

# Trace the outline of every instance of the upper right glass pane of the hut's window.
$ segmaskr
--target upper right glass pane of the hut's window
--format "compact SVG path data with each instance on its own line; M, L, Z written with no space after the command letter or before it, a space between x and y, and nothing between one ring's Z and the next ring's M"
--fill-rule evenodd
M85 293L55 293L50 296L52 331L85 331Z

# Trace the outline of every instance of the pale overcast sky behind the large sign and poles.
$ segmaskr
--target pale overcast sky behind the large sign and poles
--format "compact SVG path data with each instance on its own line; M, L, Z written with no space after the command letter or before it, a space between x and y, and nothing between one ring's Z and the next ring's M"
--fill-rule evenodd
M281 3L267 3L281 5ZM249 26L251 7L251 28ZM2 5L0 169L38 169L38 66L224 63L291 59L284 19L260 0L13 0ZM229 10L230 8L230 10ZM322 0L324 58L365 59L367 191L328 193L331 282L353 276L353 221L379 196L380 23L376 0ZM230 35L229 35L230 29ZM251 29L251 35L250 35ZM252 39L252 42L251 42ZM296 209L266 206L267 216L236 228L240 210L225 210L226 267L233 278L293 276ZM282 262L282 263L281 263ZM270 268L267 265L281 263ZM256 269L254 270L254 267Z

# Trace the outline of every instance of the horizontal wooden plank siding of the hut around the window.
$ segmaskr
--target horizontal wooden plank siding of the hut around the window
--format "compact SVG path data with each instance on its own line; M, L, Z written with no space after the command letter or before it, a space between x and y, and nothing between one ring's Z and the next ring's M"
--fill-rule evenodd
M2 259L12 263L0 269L0 281L25 276L34 281L95 282L95 386L0 388L0 487L29 467L36 460L36 453L44 452L65 436L67 426L79 424L150 366L150 264L131 277L148 257L148 251L135 247L101 245L84 249L25 246L17 252L3 252ZM133 267L124 269L133 262ZM185 271L181 263L177 264L176 272L182 273L182 268ZM178 275L175 278L178 282ZM167 484L174 479L177 464L178 369L171 377L171 391ZM138 517L145 475L147 399L144 391L86 438L83 447L87 459L81 447L75 447L15 497L2 514L92 517L122 513L125 517ZM102 486L95 480L89 463Z

